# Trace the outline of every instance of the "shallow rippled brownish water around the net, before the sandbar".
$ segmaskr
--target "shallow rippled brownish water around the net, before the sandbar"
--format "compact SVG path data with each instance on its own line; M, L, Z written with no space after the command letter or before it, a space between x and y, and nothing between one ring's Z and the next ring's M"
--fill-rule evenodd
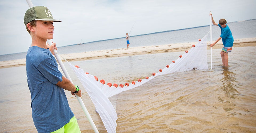
M223 69L213 49L213 70L155 77L111 99L116 101L117 132L256 132L256 47L234 47ZM183 52L74 61L106 82L125 83L151 76ZM209 51L208 51L209 53ZM210 56L208 55L208 62ZM210 63L208 63L210 65ZM73 82L81 85L65 63ZM210 66L209 66L210 68ZM0 132L37 132L25 66L0 69ZM99 132L106 132L86 91L82 99ZM94 132L76 98L66 92L82 132Z

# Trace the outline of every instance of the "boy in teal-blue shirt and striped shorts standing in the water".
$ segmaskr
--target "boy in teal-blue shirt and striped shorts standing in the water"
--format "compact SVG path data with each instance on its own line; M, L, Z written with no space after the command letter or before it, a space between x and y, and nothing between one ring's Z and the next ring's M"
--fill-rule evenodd
M229 57L227 56L227 54L232 51L234 38L229 27L227 26L227 21L225 19L220 19L219 24L217 24L213 20L213 14L210 13L210 15L213 24L221 28L221 36L214 43L210 44L210 47L213 47L219 40L222 39L222 43L224 45L221 51L222 65L227 67L229 61Z

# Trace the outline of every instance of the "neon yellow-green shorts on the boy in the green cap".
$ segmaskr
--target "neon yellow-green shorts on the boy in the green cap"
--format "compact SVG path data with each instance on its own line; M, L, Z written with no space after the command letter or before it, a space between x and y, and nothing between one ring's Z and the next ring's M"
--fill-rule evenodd
M59 128L58 130L53 131L52 133L63 133L63 132L81 133L75 116L70 119L69 123Z

